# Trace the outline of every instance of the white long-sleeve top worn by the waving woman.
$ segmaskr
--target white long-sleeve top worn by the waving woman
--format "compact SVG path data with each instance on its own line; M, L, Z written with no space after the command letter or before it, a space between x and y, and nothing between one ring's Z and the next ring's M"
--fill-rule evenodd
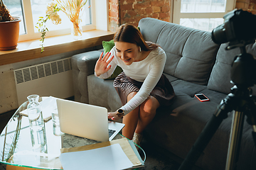
M141 105L146 98L149 97L149 94L163 74L164 64L166 63L166 54L161 47L158 47L155 50L152 50L144 60L132 62L132 64L126 65L119 57L117 57L117 50L115 46L110 50L110 52L111 56L114 55L114 59L110 62L111 69L105 74L101 74L99 76L101 79L107 79L107 77L110 77L118 65L123 69L124 74L126 74L127 77L143 82L138 93L121 107L126 115ZM95 74L95 76L97 75Z

